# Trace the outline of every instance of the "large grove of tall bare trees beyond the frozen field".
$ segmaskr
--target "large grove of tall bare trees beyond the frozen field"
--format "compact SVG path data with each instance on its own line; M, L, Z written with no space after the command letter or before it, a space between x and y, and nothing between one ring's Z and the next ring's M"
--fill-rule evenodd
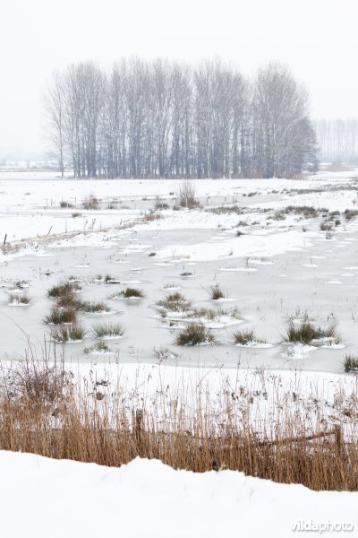
M283 65L249 81L219 60L141 59L54 75L49 139L74 177L282 177L315 169L304 88Z

